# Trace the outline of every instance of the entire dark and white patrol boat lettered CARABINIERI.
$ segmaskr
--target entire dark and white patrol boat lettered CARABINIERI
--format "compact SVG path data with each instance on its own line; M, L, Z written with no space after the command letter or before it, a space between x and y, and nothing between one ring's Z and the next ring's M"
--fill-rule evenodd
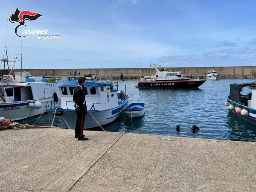
M143 77L136 88L198 88L206 80L190 78L179 78L177 72L159 70L155 65L156 74L154 76Z

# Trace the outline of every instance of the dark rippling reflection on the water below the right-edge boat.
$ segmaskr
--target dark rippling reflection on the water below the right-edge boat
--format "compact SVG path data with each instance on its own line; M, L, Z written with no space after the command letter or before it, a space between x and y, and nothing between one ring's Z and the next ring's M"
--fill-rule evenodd
M256 142L256 127L244 121L232 111L227 113L227 140Z

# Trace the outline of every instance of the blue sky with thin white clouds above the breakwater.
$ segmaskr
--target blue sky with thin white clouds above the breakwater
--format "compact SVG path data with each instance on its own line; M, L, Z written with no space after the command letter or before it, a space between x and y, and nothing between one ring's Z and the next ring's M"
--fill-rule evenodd
M0 58L7 47L16 69L256 66L255 7L255 0L4 1ZM9 21L17 8L42 15L25 20L18 35L47 29L47 38L61 39L18 37L19 23Z

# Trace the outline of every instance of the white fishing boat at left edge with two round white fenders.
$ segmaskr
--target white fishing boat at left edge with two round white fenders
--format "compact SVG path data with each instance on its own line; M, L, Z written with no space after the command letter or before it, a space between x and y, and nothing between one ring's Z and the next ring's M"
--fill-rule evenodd
M12 75L4 76L8 80L0 81L0 114L6 119L17 121L40 115L49 101L60 105L56 83L32 82L31 79L20 82Z

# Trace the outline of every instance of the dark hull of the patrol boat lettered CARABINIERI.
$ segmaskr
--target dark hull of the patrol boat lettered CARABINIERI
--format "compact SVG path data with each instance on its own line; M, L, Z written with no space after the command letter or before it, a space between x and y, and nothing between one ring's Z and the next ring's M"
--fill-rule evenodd
M146 81L139 82L137 88L198 88L206 80L179 80L179 81Z

